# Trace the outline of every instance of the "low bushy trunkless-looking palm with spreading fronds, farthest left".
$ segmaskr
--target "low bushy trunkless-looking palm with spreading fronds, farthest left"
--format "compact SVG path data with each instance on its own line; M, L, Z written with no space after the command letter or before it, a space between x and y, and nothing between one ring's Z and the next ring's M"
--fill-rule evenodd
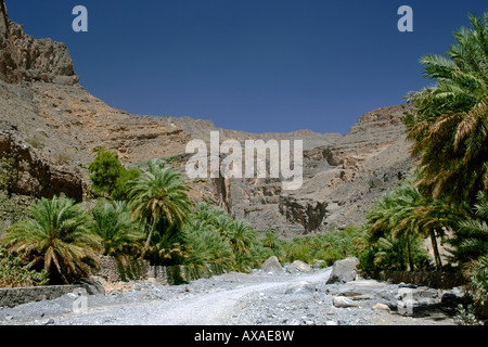
M9 253L25 254L49 273L50 282L70 283L89 272L101 248L89 230L89 216L74 200L41 198L28 218L12 226L2 237Z

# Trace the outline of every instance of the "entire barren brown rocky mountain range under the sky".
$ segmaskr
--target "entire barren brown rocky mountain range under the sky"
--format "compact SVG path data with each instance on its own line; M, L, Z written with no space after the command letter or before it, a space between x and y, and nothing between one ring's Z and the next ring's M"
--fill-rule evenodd
M407 105L362 115L345 134L298 130L247 133L210 120L131 115L79 85L65 44L34 39L0 13L0 158L13 158L13 194L78 201L89 191L94 150L116 151L123 163L174 157L183 168L192 139L304 140L304 182L285 191L281 179L190 180L194 200L210 198L237 219L283 236L360 222L375 198L413 167L400 121ZM231 116L231 115L230 115Z

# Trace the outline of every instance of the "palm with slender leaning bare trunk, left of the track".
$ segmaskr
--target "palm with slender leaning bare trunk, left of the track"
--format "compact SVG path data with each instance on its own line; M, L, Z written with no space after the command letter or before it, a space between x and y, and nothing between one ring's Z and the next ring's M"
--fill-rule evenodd
M132 218L147 223L147 237L143 254L162 218L171 227L181 228L192 203L189 188L181 174L175 172L165 162L150 160L149 168L137 179L129 181L128 200Z

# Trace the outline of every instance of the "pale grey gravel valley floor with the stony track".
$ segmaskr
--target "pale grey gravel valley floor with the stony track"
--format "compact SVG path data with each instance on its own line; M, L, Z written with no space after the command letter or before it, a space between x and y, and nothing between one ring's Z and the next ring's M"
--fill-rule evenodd
M86 309L72 293L0 308L0 325L454 324L450 314L462 296L458 288L438 291L372 280L328 284L331 271L231 272L176 286L118 283L105 295L86 297ZM81 309L75 312L77 308Z

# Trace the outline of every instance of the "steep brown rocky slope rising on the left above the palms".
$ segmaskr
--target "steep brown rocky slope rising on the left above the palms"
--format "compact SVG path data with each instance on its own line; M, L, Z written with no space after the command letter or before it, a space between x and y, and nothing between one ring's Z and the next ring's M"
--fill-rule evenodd
M98 146L117 151L125 163L184 151L189 136L181 129L88 93L66 46L26 35L0 4L0 158L14 158L17 177L10 192L79 201Z

